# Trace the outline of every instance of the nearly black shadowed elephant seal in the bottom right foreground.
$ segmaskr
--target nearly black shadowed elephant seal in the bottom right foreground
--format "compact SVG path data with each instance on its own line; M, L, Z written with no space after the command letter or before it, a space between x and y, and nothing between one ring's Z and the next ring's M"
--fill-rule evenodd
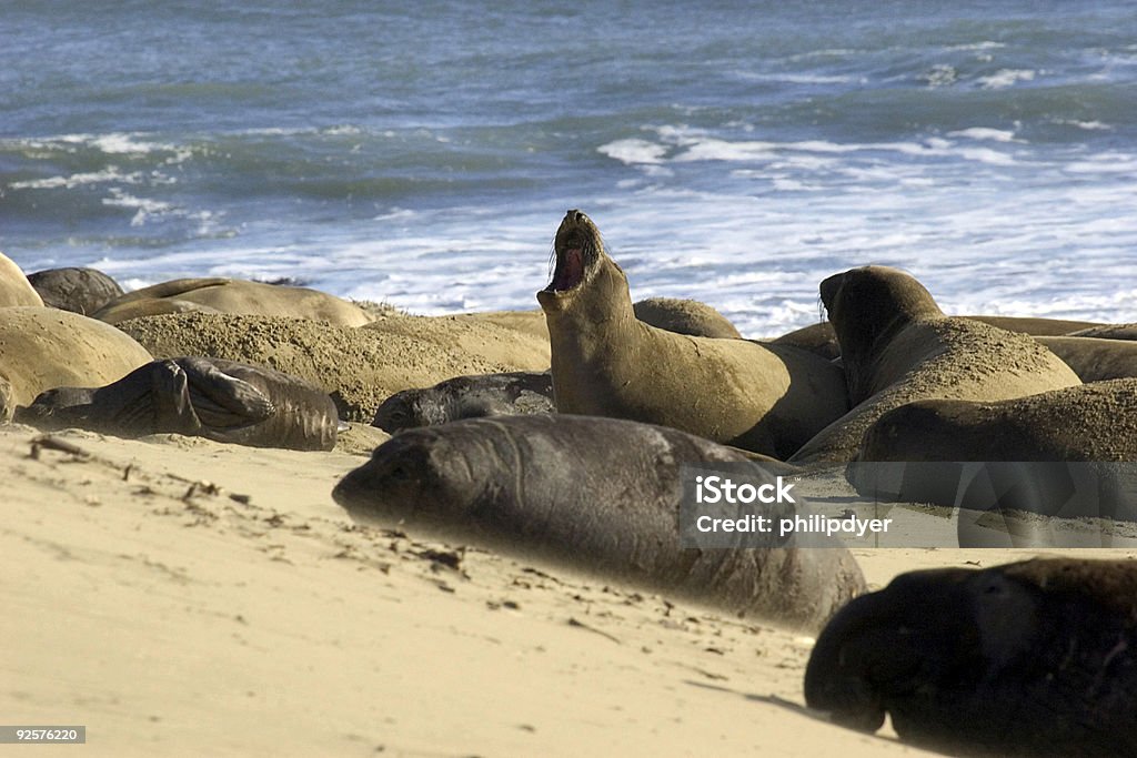
M902 574L825 626L805 701L951 755L1137 756L1137 561Z

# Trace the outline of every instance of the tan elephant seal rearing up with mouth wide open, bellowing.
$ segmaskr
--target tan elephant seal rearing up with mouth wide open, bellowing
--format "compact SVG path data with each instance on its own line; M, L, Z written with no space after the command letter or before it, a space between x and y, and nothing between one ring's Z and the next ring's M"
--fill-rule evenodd
M537 293L557 411L671 426L786 458L848 409L839 367L805 350L680 335L636 318L600 232L570 210Z

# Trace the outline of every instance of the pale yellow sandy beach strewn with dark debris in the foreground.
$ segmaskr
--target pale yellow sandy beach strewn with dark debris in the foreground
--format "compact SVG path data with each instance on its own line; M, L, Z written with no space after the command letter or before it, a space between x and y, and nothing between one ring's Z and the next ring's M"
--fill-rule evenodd
M354 525L366 442L39 436L0 430L0 699L88 741L36 755L922 755L805 710L807 636ZM880 586L1030 553L855 555Z

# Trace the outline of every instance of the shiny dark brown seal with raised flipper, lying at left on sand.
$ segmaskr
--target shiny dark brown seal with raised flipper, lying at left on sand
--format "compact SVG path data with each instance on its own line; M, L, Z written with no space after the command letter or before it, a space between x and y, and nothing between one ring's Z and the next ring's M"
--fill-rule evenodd
M48 390L16 420L119 436L176 433L256 448L331 450L331 397L288 374L232 360L155 360L102 388Z

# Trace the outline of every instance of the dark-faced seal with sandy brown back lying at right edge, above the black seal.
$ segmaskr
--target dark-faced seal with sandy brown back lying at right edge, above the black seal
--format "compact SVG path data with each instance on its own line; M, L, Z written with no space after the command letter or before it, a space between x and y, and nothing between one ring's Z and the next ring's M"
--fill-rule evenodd
M1137 461L1137 378L997 402L919 400L883 414L862 457L906 463L850 466L861 494L971 511L960 515L961 545L1102 547L1106 533L1087 542L1022 515L1137 520L1137 464L1105 463ZM972 528L990 511L1005 534Z

